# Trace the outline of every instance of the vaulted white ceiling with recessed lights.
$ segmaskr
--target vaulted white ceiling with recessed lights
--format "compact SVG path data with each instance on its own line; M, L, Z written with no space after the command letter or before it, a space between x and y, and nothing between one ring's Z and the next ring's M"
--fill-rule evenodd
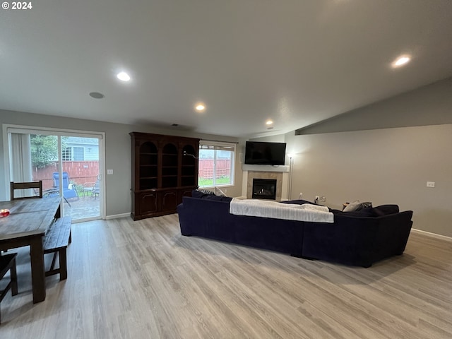
M451 0L31 3L0 10L0 109L247 137L452 76Z

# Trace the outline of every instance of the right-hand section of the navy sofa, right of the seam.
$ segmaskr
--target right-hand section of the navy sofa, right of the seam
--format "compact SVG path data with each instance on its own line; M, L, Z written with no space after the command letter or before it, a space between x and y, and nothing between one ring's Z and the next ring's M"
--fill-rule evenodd
M304 222L304 258L369 267L403 254L410 236L412 211L378 217L335 213L334 223Z

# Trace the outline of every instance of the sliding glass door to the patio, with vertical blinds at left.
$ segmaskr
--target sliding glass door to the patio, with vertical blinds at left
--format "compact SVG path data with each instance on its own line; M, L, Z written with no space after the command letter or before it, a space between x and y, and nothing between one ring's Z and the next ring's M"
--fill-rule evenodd
M11 181L42 180L43 198L62 196L73 220L103 216L102 135L8 128Z

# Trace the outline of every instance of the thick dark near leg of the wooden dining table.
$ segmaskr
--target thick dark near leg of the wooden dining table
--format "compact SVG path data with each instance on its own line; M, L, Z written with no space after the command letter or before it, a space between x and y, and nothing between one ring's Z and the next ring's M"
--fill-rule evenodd
M33 304L45 299L44 250L42 249L42 235L32 237L30 241L31 281L33 290Z

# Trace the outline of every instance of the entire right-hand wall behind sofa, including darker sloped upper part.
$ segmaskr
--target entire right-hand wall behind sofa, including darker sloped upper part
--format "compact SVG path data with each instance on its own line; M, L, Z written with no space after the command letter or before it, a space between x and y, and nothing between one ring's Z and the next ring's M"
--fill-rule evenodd
M292 198L396 203L414 228L452 237L452 78L287 133ZM436 182L434 189L427 181Z

